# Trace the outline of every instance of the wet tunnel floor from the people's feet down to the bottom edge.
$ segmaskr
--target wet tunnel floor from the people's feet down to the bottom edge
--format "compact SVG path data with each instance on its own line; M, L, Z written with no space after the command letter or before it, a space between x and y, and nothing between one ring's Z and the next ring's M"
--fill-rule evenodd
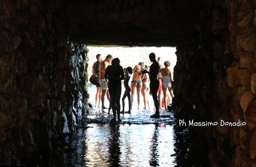
M175 166L173 113L161 110L160 119L152 113L132 110L109 124L108 110L91 110L50 166Z

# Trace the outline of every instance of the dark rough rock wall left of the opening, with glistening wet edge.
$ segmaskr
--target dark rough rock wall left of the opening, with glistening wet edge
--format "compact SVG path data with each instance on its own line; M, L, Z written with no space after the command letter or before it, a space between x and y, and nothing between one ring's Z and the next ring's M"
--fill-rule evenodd
M40 164L85 112L86 46L63 5L0 1L0 164Z

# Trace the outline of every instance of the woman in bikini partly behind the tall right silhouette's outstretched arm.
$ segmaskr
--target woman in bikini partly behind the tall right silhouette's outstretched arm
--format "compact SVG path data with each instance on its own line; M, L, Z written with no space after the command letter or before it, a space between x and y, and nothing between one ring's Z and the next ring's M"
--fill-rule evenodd
M141 67L143 69L148 70L147 65L141 64ZM144 108L145 110L148 110L149 109L148 94L149 94L149 82L150 82L148 73L141 75L141 81L142 81L141 94L143 96Z

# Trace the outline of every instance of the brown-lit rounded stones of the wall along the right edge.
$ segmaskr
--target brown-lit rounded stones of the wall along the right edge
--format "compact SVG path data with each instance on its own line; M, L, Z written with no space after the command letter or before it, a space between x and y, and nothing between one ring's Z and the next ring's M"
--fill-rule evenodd
M256 166L255 51L256 1L227 1L230 50L234 61L227 69L232 99L228 113L234 121L246 122L230 133L232 166Z

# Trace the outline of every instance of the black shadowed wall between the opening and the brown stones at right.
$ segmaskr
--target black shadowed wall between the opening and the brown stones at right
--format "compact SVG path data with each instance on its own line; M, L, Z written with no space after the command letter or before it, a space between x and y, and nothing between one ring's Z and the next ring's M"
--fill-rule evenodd
M177 120L219 122L220 125L220 120L236 120L230 112L232 96L226 82L226 70L233 61L227 7L224 1L202 1L200 9L197 43L177 47L173 105ZM184 133L186 128L188 134ZM184 133L183 144L188 145L189 150L179 150L187 156L178 164L184 166L182 163L186 161L186 165L230 166L234 152L230 136L235 128L177 126L177 136Z

